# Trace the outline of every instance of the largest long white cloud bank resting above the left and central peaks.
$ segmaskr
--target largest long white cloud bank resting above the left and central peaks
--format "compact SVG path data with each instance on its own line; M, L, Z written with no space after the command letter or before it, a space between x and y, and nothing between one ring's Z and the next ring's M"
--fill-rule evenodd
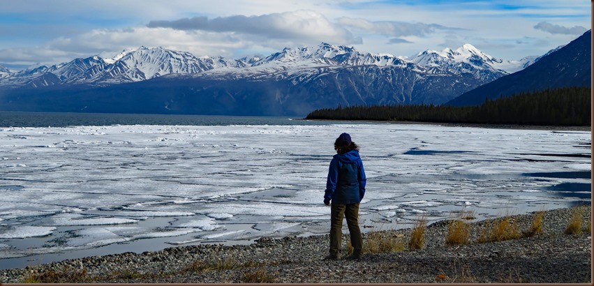
M347 29L308 10L253 17L193 17L175 21L153 21L125 29L93 29L75 36L61 36L43 47L0 50L0 62L10 59L60 63L75 57L112 57L126 48L164 47L196 56L244 57L237 51L278 51L283 47L360 43Z

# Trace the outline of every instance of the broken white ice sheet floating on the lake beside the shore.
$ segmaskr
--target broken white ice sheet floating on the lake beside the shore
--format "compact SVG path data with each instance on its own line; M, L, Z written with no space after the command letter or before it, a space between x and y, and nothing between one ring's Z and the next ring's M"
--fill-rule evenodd
M591 203L591 133L423 124L0 128L0 269L325 234L334 139L361 146L362 230ZM346 232L346 227L345 227Z

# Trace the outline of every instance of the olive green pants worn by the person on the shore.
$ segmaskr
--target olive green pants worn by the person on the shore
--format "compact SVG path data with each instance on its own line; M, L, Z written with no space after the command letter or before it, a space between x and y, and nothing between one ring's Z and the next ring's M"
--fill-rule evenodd
M359 229L359 204L332 204L330 210L330 255L338 257L341 253L343 218L346 218L350 244L355 248L355 256L363 254L363 238Z

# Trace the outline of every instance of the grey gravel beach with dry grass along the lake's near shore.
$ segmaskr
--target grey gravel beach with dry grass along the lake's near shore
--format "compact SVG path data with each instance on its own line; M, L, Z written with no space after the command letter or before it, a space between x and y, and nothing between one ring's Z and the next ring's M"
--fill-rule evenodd
M581 234L565 234L581 211ZM510 216L520 232L535 213ZM376 232L405 250L326 260L327 235L262 238L248 246L198 245L121 253L0 271L1 283L588 283L592 281L591 206L544 212L542 233L479 243L493 220L473 222L470 242L446 246L448 222L426 227L424 247L409 250L411 229ZM368 243L370 234L364 235ZM345 236L343 244L348 237Z

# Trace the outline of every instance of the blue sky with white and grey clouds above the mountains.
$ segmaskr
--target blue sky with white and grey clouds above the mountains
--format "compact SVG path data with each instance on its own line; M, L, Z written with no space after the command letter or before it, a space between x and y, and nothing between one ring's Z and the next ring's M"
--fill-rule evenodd
M586 0L0 0L0 65L142 45L237 59L322 42L395 56L470 43L521 59L588 29Z

